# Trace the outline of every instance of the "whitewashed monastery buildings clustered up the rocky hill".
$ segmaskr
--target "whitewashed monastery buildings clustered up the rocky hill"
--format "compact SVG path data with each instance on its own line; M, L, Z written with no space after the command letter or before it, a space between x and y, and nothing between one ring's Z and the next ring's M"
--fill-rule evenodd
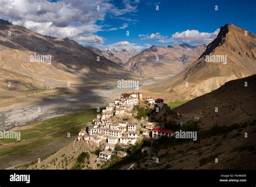
M111 158L112 153L107 150L114 150L117 143L123 146L134 145L139 137L137 125L140 123L131 123L128 119L132 116L133 106L142 100L141 92L122 93L119 99L109 102L101 114L97 114L91 123L86 124L86 128L79 132L77 140L91 141L97 146L104 145L105 150L99 153L99 158L104 160ZM154 100L152 97L148 97L146 100L159 107L164 105L164 100L160 98ZM114 116L116 118L113 118ZM123 120L119 121L119 119ZM141 132L148 135L151 131L153 138L173 134L173 131L160 129L157 123L146 124ZM126 153L119 152L119 156L125 155Z

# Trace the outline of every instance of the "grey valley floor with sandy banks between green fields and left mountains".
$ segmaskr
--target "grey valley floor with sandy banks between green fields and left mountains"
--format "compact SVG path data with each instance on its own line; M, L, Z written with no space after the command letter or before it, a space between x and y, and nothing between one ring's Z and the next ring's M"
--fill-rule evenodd
M143 85L152 84L154 80L145 81ZM0 107L0 131L12 127L41 121L84 109L105 106L106 103L117 98L121 92L134 91L132 88L95 88L79 94L67 94L55 90L27 90L19 96L11 97L13 92L0 96L0 102L10 99L10 103L17 103L10 107ZM59 95L58 95L59 94ZM1 112L2 111L2 112Z

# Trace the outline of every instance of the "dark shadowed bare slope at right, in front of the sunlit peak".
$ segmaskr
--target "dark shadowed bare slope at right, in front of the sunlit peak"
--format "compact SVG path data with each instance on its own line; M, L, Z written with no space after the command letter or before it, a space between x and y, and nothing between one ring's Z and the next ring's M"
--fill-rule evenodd
M215 123L232 125L256 120L255 105L256 75L252 75L229 81L217 90L174 108L174 111L185 118L199 117L208 128Z

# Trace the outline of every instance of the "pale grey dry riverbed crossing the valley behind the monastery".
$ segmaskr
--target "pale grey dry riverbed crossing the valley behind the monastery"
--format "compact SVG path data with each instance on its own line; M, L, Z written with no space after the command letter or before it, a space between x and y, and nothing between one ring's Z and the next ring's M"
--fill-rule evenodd
M152 84L154 81L143 82L140 86ZM82 94L63 94L60 96L49 96L40 103L34 103L29 106L23 103L21 106L7 109L0 107L0 131L9 130L13 127L28 124L30 122L41 121L64 114L69 114L84 109L92 109L106 106L108 102L117 98L121 92L137 91L131 88L111 88L95 89ZM30 100L30 96L26 98ZM38 102L38 99L35 99Z

